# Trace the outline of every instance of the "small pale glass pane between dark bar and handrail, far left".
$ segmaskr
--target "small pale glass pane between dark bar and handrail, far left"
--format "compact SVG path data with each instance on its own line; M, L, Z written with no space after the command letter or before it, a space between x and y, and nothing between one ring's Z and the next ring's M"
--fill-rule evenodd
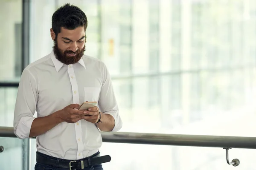
M13 126L17 88L0 88L0 126Z

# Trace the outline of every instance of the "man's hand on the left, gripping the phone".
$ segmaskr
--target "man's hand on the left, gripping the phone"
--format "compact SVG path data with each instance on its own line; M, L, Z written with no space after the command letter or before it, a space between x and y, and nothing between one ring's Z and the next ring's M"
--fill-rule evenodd
M58 116L61 118L61 122L76 123L81 120L83 111L79 111L79 104L71 104L58 111Z

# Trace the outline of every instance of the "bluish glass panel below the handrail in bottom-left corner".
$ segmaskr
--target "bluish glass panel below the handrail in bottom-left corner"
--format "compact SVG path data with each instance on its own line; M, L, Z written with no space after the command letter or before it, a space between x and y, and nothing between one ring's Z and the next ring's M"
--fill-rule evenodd
M0 146L4 151L0 153L1 170L28 170L27 153L28 139L0 137Z

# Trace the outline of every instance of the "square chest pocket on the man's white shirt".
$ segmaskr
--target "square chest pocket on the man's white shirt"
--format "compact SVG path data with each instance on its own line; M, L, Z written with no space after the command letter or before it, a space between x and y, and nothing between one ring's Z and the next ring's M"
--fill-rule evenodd
M99 101L100 88L97 87L84 87L84 101L98 102Z

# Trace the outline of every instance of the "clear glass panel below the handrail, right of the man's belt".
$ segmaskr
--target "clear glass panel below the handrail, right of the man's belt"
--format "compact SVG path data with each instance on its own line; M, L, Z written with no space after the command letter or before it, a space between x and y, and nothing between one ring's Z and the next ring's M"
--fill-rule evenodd
M103 143L100 152L111 156L104 170L256 170L256 150L229 150L230 161L240 160L238 167L227 164L222 148Z

